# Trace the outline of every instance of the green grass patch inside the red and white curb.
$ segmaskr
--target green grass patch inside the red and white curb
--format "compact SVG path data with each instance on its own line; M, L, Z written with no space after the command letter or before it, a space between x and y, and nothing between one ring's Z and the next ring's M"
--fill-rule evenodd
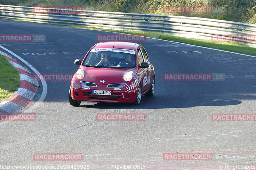
M0 55L0 102L11 97L19 86L19 71L3 55Z

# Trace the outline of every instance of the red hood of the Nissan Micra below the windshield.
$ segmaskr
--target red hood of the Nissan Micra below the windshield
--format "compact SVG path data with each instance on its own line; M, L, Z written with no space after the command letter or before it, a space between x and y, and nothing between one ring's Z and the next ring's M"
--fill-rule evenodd
M96 84L113 84L113 83L126 83L123 79L124 74L135 69L110 69L110 68L93 68L82 66L84 70L84 78L80 81L92 82ZM136 74L136 72L135 72ZM104 80L104 83L100 83Z

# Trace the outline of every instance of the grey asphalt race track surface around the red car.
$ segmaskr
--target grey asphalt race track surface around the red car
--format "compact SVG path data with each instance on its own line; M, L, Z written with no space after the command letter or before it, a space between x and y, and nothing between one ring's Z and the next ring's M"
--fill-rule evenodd
M0 45L41 74L74 74L79 67L74 60L84 58L98 42L98 34L110 33L0 19L0 34L44 34L45 42ZM34 113L36 120L0 122L0 164L174 170L256 165L256 122L211 119L212 114L256 114L256 58L155 39L138 43L155 67L153 97L143 96L138 106L82 101L79 107L72 107L68 102L70 81L45 81L46 97L33 107L43 93L40 82L36 97L19 112ZM166 81L164 73L223 73L226 78ZM140 113L146 120L97 121L99 113ZM164 153L197 152L211 153L212 159L163 159ZM35 153L81 153L83 160L36 161Z

